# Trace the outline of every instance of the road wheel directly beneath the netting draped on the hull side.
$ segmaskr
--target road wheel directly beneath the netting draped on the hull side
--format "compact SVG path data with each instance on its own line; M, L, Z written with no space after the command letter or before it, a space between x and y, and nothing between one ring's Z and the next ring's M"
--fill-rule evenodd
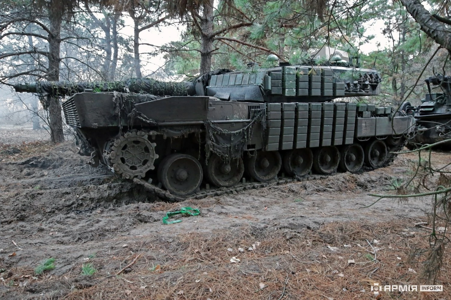
M205 168L207 180L218 187L231 187L238 184L243 173L244 164L241 157L226 162L218 155L212 154Z

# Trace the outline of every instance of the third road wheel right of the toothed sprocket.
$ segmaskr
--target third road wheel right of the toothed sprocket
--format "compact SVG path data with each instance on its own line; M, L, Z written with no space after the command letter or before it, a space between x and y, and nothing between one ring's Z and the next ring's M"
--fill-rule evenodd
M278 151L256 151L249 155L246 172L257 181L268 181L277 176L282 167L282 157Z

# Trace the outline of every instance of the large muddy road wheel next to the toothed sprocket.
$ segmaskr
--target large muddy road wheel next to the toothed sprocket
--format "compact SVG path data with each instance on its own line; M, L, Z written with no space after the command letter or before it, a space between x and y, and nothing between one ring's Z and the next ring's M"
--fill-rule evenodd
M161 161L158 180L173 195L188 196L202 183L203 171L199 161L186 154L170 154Z

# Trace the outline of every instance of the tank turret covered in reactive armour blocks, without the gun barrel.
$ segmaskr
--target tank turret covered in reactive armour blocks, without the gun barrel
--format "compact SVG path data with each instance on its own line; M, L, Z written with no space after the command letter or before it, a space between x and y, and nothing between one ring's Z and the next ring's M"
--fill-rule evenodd
M377 95L376 70L336 66L280 66L211 76L207 95L254 102L325 102Z

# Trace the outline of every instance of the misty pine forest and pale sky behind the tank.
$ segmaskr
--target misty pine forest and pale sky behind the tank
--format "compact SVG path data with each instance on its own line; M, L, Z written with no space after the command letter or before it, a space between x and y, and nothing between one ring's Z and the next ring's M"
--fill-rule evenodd
M180 81L217 68L305 62L329 46L383 76L371 101L418 104L423 78L449 67L449 1L0 1L3 122L47 124L63 141L58 97L15 94L19 81ZM369 46L368 46L369 45ZM369 47L369 49L368 49ZM364 50L364 51L362 51ZM319 60L327 61L329 57ZM14 112L14 114L12 114Z

